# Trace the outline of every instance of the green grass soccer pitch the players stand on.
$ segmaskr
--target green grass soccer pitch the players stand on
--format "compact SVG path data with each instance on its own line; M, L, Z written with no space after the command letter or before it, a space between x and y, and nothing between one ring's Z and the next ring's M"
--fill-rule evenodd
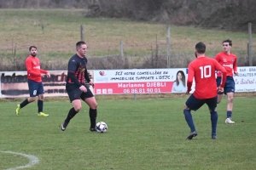
M18 102L0 107L0 150L37 156L29 169L253 169L256 166L255 98L235 98L234 125L224 124L226 99L218 105L218 139L211 139L207 106L192 112L198 136L192 140L183 116L186 99L98 99L97 121L107 133L91 133L88 107L65 132L59 125L71 104L44 102L49 117L37 116L37 104L15 116ZM0 169L26 165L23 156L0 152Z

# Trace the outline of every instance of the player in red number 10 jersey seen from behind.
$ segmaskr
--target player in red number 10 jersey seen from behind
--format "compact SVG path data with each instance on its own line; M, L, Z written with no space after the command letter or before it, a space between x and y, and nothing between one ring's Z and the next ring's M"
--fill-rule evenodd
M191 91L193 78L195 78L195 92L189 96L189 99L187 99L183 108L185 120L188 123L191 132L187 139L193 139L193 137L197 136L191 110L197 111L204 104L208 105L211 114L212 139L217 139L217 91L221 92L224 90L226 71L215 59L205 56L205 53L206 45L203 42L198 42L195 45L196 59L189 64L186 94L189 94ZM215 79L215 71L221 71L223 74L223 82L218 88Z

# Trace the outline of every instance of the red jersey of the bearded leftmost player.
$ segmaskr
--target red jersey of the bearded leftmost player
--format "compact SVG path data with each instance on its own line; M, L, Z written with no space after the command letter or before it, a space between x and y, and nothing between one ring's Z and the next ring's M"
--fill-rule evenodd
M37 57L28 56L26 58L27 79L42 82L41 73L47 74L47 71L40 69L40 62Z

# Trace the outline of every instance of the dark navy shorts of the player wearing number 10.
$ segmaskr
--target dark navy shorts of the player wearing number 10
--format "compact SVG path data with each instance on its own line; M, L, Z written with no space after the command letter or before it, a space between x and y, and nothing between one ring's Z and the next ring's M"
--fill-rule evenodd
M189 96L189 99L187 99L186 101L186 105L192 111L197 111L204 104L207 104L210 110L214 111L215 108L217 107L217 94L214 98L210 98L210 99L196 99L194 94L191 94Z

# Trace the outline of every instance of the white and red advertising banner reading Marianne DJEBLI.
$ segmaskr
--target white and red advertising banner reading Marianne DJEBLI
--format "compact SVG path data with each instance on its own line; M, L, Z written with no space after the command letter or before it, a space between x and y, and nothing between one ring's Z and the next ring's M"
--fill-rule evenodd
M186 69L94 71L95 94L162 94L186 92Z

